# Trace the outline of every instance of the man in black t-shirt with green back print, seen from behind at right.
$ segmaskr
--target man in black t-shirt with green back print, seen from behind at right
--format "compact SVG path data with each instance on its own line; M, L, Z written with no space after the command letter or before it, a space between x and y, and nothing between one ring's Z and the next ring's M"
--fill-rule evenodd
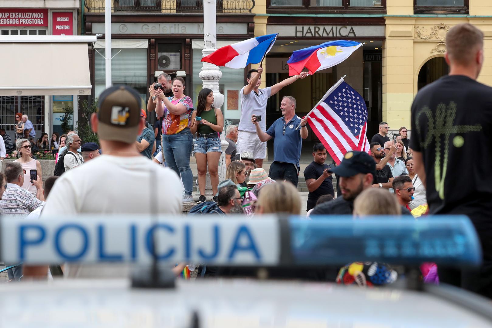
M492 88L476 81L483 38L470 24L447 33L449 75L415 97L410 148L430 212L467 215L482 244L479 270L446 274L441 281L457 284L461 277L462 287L492 298Z

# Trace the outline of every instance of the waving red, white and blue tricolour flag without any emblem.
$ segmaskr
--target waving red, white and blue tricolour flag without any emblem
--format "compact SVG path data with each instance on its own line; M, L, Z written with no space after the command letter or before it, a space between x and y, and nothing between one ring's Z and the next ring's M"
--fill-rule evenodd
M257 64L272 49L278 34L253 37L215 50L202 58L217 66L245 68L248 64Z

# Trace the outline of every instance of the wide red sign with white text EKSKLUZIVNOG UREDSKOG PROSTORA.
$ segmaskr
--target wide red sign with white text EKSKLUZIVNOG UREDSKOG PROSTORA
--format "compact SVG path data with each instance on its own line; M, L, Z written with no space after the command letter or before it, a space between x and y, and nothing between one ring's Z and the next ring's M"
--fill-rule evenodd
M48 9L0 8L0 26L48 26Z

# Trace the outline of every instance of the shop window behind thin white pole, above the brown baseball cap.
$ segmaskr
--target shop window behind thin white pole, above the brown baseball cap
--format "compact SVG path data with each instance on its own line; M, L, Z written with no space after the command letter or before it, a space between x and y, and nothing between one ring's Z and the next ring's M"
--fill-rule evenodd
M102 56L94 52L94 93L96 97L106 89L106 63L103 57L105 49L98 49L98 51ZM111 56L114 56L111 60L113 85L124 84L137 89L145 103L149 88L147 85L147 49L111 49Z

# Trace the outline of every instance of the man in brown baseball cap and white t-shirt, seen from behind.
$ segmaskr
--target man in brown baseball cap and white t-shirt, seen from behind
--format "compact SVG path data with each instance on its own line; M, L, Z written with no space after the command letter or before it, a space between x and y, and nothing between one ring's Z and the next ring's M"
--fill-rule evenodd
M135 140L145 126L142 99L127 86L115 86L99 96L92 130L102 155L60 177L50 193L41 219L76 214L181 215L182 190L178 175L142 156ZM136 216L137 217L137 216ZM114 236L113 236L114 237ZM176 273L184 268L173 268ZM126 266L68 265L70 277L124 277Z

